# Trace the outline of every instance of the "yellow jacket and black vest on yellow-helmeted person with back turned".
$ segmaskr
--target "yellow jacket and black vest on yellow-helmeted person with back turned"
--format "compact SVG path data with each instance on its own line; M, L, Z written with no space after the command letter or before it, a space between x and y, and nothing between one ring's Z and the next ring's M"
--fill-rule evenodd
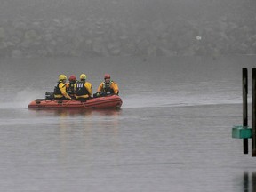
M92 84L89 82L78 81L75 87L76 99L90 98L92 96Z

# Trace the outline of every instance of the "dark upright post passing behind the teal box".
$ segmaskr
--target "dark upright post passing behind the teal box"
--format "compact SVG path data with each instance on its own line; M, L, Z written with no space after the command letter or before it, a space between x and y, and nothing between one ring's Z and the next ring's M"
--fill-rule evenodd
M248 126L248 72L247 68L243 68L243 126ZM243 140L244 154L248 154L248 139Z

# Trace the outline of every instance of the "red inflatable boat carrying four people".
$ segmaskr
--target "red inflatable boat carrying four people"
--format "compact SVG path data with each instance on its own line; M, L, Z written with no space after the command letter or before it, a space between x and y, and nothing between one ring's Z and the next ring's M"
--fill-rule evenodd
M103 108L121 108L123 100L116 95L92 98L86 101L80 100L45 100L36 99L28 104L28 108L81 108L81 109L103 109Z

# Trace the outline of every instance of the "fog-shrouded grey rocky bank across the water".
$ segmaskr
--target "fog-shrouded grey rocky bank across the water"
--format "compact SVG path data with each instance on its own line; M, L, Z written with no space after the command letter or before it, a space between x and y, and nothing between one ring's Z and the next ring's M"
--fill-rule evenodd
M254 54L252 0L1 0L0 56Z

